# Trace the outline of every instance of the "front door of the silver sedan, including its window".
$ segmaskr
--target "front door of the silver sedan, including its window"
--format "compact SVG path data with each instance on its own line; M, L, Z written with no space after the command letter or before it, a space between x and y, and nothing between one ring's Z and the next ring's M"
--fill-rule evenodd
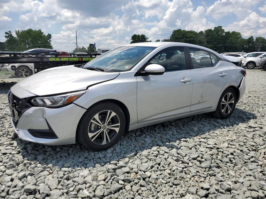
M137 77L138 122L190 112L193 80L184 49L166 49L150 63L165 67L165 73Z

